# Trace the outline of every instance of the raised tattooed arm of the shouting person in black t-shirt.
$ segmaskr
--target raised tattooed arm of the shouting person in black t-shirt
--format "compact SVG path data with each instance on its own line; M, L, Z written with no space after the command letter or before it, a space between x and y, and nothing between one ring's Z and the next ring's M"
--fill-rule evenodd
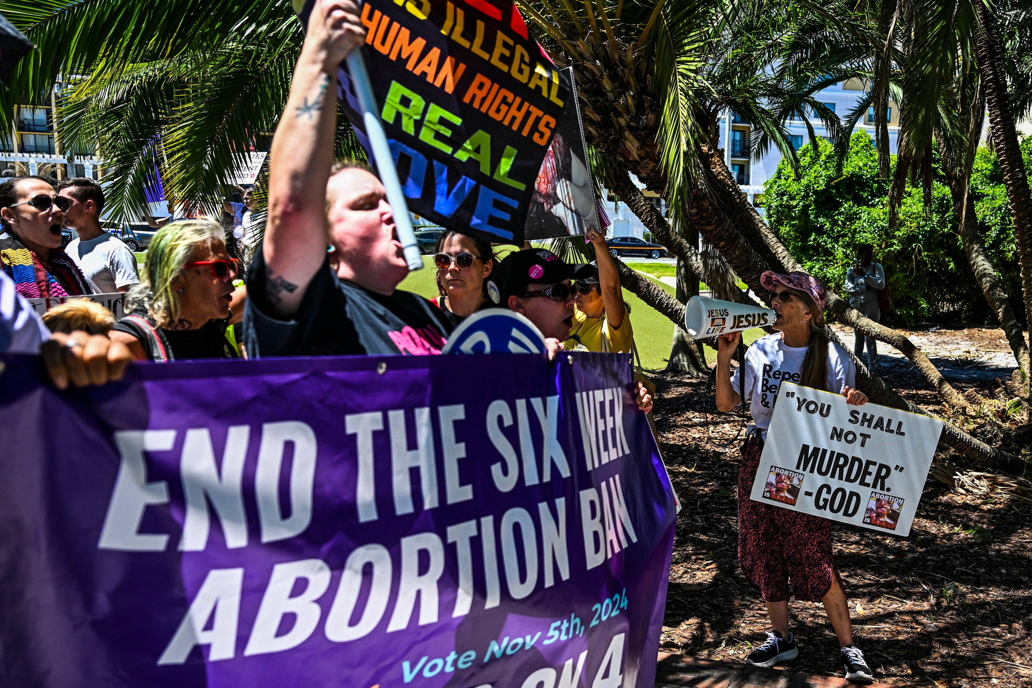
M326 259L326 182L333 164L337 65L362 44L355 0L316 0L269 154L266 298L293 316Z

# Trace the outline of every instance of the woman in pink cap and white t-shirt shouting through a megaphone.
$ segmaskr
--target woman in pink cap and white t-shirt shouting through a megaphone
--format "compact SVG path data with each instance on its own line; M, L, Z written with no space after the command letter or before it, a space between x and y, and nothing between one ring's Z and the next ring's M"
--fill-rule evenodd
M820 600L842 648L846 679L873 683L864 653L853 643L849 608L832 557L831 521L749 499L781 381L842 394L856 405L866 403L867 396L852 389L857 369L848 354L825 334L824 285L805 272L772 271L764 272L761 284L773 295L778 331L754 341L745 355L745 397L753 424L738 474L738 558L767 603L773 631L746 661L773 666L795 659L799 649L788 630L788 599ZM742 402L739 374L731 373L739 336L720 336L716 405L721 412Z

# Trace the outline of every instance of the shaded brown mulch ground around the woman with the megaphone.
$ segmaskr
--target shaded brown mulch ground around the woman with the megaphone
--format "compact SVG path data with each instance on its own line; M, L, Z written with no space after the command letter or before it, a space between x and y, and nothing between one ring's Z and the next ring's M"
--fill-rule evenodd
M653 381L660 448L683 504L660 649L744 662L769 630L737 561L745 422L716 412L711 380L657 373ZM916 371L886 382L914 403L939 403ZM908 537L833 529L857 643L879 683L1032 686L1032 504L963 495L929 480ZM785 667L841 677L823 607L793 601L791 614L800 656Z

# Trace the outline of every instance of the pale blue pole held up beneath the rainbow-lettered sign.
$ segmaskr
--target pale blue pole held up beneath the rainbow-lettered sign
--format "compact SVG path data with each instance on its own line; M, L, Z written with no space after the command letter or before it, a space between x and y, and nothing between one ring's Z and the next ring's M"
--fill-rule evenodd
M361 3L359 3L361 5ZM419 253L416 233L412 229L412 219L409 217L409 205L401 193L401 183L394 168L394 157L387 144L387 134L380 123L380 112L377 100L373 95L373 85L369 84L369 73L365 70L365 59L361 48L355 48L348 56L348 71L351 72L351 83L355 85L358 105L362 108L362 122L365 124L365 135L369 138L373 149L373 159L377 162L380 181L387 190L387 202L394 210L394 228L397 239L405 251L405 261L410 270L423 269L423 256Z

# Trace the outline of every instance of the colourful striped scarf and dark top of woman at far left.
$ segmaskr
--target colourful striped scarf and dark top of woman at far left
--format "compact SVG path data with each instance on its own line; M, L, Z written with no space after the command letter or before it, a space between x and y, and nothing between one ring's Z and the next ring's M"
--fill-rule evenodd
M0 234L0 263L25 298L55 298L90 294L86 277L61 249L52 249L45 263L10 232Z

